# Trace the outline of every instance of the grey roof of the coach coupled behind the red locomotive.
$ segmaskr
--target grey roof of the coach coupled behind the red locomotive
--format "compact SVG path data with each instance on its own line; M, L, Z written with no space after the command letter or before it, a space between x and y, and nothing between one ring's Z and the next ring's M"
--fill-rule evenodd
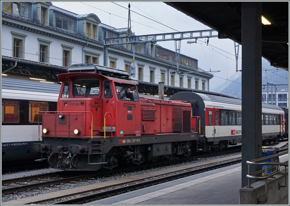
M174 95L169 100L182 100L182 101L197 101L202 99L203 101L209 102L221 102L226 104L237 104L242 105L242 99L224 97L221 95L203 94L195 92L179 92ZM198 102L197 102L198 103ZM279 106L262 103L262 108L282 110Z

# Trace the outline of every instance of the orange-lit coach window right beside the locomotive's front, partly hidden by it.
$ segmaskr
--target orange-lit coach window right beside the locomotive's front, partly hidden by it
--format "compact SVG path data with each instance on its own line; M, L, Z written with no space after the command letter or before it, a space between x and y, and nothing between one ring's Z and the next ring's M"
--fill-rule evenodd
M42 122L42 113L48 111L48 102L29 101L29 122Z

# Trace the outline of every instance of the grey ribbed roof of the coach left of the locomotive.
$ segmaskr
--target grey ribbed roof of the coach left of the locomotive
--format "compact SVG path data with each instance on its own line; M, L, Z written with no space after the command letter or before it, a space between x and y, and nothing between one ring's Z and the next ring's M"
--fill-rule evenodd
M29 80L10 79L2 77L2 89L46 92L59 94L60 84L42 83Z

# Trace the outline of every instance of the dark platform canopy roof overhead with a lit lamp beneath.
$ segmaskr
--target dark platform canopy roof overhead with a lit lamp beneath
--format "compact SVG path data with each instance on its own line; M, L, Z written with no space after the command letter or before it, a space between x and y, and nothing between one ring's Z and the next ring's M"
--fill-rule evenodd
M165 2L193 19L218 31L218 38L230 38L242 45L242 2ZM262 2L262 56L271 66L288 70L289 2Z

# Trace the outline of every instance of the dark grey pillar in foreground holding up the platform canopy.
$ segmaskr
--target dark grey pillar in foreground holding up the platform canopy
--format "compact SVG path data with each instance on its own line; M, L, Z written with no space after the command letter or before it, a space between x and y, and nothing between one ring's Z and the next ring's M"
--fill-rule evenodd
M262 157L261 18L261 2L242 3L242 187L248 185L246 161Z

